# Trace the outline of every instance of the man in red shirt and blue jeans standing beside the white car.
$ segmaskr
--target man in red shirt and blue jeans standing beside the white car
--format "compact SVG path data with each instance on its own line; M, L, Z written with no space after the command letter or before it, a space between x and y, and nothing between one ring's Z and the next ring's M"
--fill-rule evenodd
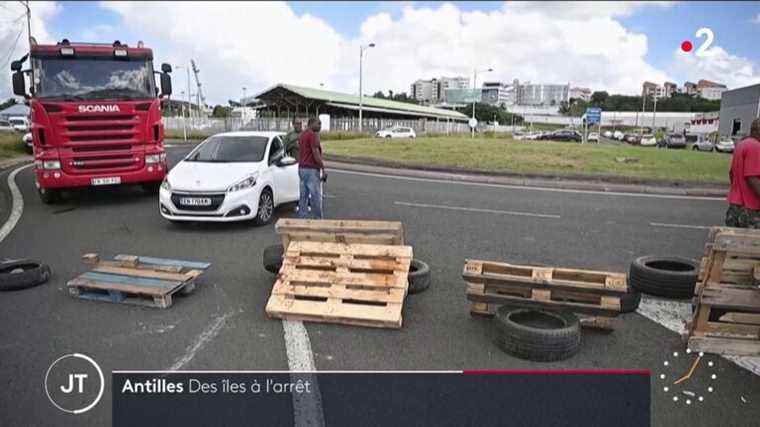
M301 181L298 198L298 217L311 216L322 219L322 186L320 180L327 178L324 162L322 161L322 145L319 142L319 131L322 122L312 117L309 119L306 131L298 138L298 177ZM309 200L311 199L311 201Z

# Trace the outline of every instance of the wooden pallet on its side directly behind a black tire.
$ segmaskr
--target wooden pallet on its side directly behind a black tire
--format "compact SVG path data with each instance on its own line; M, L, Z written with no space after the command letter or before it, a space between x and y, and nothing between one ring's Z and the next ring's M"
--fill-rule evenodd
M480 315L512 305L612 317L620 314L620 297L628 292L625 274L606 271L467 260L462 277L470 312Z

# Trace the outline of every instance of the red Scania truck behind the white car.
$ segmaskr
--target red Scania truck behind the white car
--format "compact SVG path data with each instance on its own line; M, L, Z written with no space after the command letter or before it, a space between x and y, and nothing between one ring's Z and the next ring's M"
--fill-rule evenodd
M22 70L27 58L30 67ZM161 99L172 91L171 66L155 72L153 52L142 42L32 40L29 54L11 70L13 93L31 110L36 187L44 203L55 202L63 189L86 186L141 184L158 191L167 172Z

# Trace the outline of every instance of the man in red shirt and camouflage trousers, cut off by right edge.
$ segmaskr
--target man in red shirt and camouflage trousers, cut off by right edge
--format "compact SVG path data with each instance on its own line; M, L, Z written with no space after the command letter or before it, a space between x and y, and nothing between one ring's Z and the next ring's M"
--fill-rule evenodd
M760 118L752 121L749 136L737 145L729 178L726 225L760 228Z

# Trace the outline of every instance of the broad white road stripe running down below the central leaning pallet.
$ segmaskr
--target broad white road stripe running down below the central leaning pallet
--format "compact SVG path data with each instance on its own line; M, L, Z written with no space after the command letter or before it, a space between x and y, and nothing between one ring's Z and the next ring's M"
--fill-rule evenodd
M300 321L283 320L282 330L285 335L285 351L288 355L291 381L299 379L309 381L313 390L309 394L292 393L294 425L296 427L324 426L322 396L319 392L317 376L314 374L317 367L314 363L314 354L311 351L311 341L306 332L306 327Z

